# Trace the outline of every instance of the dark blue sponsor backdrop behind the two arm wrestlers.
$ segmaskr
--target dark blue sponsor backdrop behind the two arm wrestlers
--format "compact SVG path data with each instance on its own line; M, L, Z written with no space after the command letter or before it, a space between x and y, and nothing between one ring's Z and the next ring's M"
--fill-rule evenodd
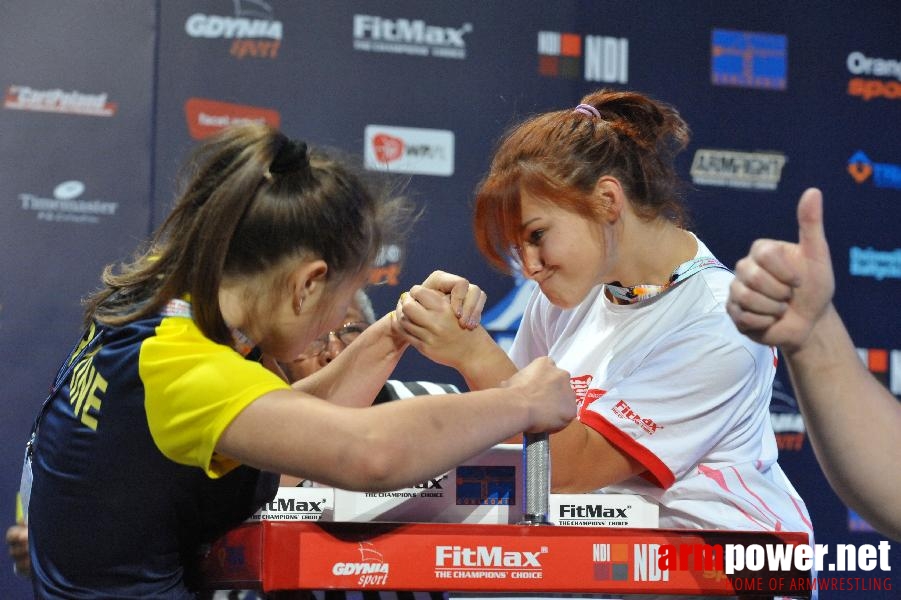
M486 290L484 322L504 340L530 287L488 267L470 229L498 137L598 87L649 93L692 127L679 167L693 230L726 265L757 237L796 239L798 196L823 189L836 305L861 360L901 395L899 30L901 8L877 0L5 2L0 524L79 298L161 222L187 150L240 121L389 173L423 208L373 271L379 313L444 269ZM462 385L412 350L396 376ZM816 541L883 539L828 487L781 369L772 413ZM0 589L29 597L11 568Z

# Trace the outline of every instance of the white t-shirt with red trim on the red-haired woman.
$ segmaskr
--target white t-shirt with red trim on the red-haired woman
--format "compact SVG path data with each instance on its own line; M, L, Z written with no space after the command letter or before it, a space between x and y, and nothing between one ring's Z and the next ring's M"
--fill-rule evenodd
M710 256L698 241L697 257ZM637 304L604 286L563 310L536 290L510 357L570 372L579 420L647 471L596 493L641 494L660 526L806 531L804 502L776 462L769 403L775 351L735 328L733 275L706 268Z

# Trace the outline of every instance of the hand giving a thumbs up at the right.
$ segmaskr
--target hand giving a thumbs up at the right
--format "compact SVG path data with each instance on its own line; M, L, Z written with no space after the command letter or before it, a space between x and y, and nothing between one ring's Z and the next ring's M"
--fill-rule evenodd
M807 340L834 291L823 195L810 188L798 202L798 243L756 240L735 265L726 311L751 339L791 353Z

